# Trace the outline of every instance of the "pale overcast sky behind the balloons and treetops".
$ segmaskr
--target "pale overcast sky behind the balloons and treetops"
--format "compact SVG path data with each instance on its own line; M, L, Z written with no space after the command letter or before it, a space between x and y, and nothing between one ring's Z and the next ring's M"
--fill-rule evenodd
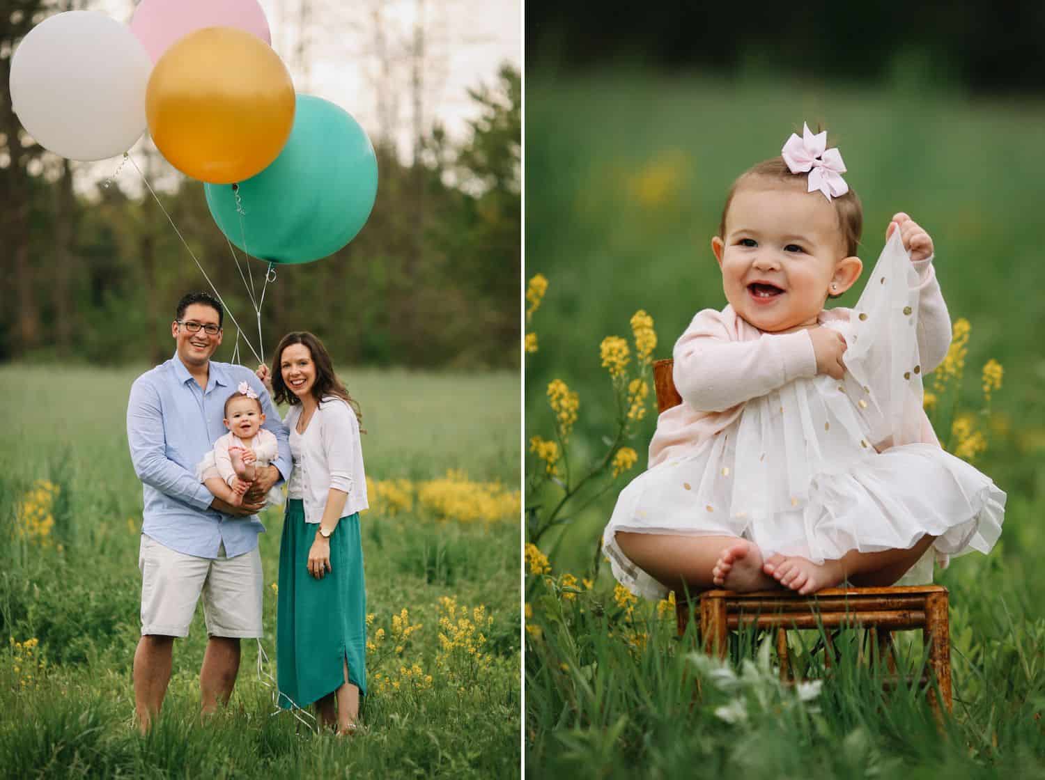
M424 22L424 125L431 126L438 119L451 137L461 138L467 132L467 120L477 114L467 90L482 82L492 84L504 62L521 69L520 2L308 0L308 22L302 27L303 0L259 0L272 30L273 48L289 69L295 88L345 109L372 139L382 129L379 107L384 95L385 114L392 120L404 160L410 156L414 121L410 51L418 18ZM93 0L86 4L124 23L130 23L136 5L132 0ZM379 89L380 61L374 53L375 10L384 20L391 65L391 74L385 80L392 85L391 89ZM301 40L304 45L299 55ZM80 185L90 188L90 181L112 174L118 162L84 166L77 176ZM175 175L164 175L164 171L156 173L156 184L161 187L176 181ZM173 174L173 170L169 173ZM140 184L133 169L121 170L119 180L132 190Z

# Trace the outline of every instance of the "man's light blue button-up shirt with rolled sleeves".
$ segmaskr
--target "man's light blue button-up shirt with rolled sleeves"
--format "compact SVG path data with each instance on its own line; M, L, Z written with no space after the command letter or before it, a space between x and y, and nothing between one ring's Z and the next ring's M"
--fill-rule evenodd
M178 552L216 558L224 542L225 553L234 558L257 547L264 530L257 515L240 518L209 509L214 496L195 476L196 464L228 432L225 401L242 381L258 394L265 415L262 427L279 443L273 466L285 479L292 468L288 431L250 369L211 360L207 388L202 389L176 352L131 387L127 443L143 487L141 530Z

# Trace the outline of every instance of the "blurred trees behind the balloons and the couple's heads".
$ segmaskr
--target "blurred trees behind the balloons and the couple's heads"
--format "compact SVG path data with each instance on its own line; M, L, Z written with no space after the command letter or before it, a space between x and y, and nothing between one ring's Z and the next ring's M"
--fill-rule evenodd
M11 111L18 42L41 15L83 5L0 6L0 361L164 360L175 303L207 289L144 188L132 191L126 178L104 185L118 160L87 168L60 159ZM411 160L394 139L371 132L379 173L370 219L335 255L277 266L262 309L269 349L288 330L311 330L341 363L518 365L520 75L506 65L486 82L477 78L467 99L477 109L467 137L450 138L438 122L419 126ZM154 186L170 184L159 193L164 209L257 346L246 286L203 185L171 180L155 149L132 156ZM250 265L260 291L265 264ZM231 355L235 336L226 325L219 359Z

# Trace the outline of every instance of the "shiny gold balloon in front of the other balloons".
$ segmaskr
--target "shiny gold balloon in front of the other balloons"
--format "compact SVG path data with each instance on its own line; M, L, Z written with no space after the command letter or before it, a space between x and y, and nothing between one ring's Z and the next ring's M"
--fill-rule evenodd
M232 27L190 32L153 68L145 116L153 141L183 173L211 184L250 179L294 126L294 84L264 41Z

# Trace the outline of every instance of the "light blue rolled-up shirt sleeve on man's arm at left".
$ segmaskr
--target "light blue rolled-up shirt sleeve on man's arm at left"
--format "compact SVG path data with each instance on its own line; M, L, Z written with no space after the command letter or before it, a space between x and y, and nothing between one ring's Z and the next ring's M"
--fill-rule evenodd
M144 378L131 386L127 401L127 445L135 473L145 484L196 510L206 510L214 497L187 470L169 459L165 449L163 409L156 387Z

